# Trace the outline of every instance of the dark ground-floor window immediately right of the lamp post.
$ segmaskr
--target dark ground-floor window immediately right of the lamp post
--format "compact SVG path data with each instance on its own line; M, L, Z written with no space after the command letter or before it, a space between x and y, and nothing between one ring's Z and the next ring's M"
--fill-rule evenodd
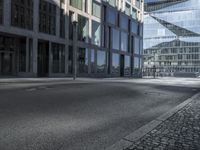
M79 48L78 56L79 73L88 73L88 49Z

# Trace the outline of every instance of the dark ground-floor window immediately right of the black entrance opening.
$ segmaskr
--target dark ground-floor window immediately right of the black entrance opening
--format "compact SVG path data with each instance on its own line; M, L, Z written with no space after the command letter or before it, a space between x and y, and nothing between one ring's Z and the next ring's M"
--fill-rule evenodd
M52 44L52 56L53 73L64 73L65 72L65 45L62 44Z

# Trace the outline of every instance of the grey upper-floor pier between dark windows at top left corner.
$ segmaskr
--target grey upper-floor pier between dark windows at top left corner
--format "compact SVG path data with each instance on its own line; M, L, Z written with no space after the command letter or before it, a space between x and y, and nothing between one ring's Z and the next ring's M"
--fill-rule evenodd
M3 24L6 28L11 25L11 0L3 1Z

